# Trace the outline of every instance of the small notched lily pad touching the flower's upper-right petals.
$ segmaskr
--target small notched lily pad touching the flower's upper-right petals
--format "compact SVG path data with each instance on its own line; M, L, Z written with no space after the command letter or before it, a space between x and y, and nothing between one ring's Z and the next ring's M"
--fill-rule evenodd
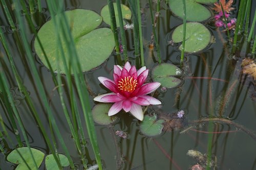
M173 76L181 76L182 71L179 67L169 63L157 65L152 70L152 79L154 82L161 83L161 86L173 88L181 83L181 80Z

